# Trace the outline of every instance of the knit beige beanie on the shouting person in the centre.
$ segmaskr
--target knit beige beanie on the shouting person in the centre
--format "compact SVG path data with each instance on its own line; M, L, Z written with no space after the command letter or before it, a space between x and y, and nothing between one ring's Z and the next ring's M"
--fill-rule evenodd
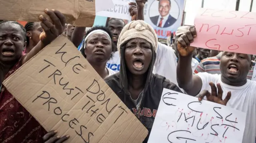
M119 55L120 45L133 38L145 39L153 45L153 49L156 51L158 42L156 32L149 24L147 24L143 20L136 20L125 25L119 35L117 42L117 49L119 51Z

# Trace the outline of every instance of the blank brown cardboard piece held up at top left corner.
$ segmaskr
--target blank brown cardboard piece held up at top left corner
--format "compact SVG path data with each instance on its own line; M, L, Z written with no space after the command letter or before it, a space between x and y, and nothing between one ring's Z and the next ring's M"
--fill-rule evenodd
M66 23L91 27L95 18L95 0L0 0L0 20L40 22L38 17L44 10L59 10L66 17Z

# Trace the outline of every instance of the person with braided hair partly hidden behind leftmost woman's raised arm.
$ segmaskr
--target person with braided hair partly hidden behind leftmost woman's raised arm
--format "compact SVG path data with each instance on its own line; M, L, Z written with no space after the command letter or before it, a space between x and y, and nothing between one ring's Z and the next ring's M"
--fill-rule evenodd
M28 22L25 25L27 46L24 49L25 53L29 53L40 41L39 36L43 32L40 22Z

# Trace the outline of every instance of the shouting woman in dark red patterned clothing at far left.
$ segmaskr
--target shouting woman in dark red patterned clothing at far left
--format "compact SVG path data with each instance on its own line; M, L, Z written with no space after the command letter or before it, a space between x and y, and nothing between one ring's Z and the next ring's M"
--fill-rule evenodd
M56 131L47 133L2 85L6 78L63 32L65 17L57 10L46 9L45 12L53 24L43 16L39 17L45 36L26 55L22 55L27 45L26 29L17 22L0 23L0 143L62 143L68 138L54 136Z

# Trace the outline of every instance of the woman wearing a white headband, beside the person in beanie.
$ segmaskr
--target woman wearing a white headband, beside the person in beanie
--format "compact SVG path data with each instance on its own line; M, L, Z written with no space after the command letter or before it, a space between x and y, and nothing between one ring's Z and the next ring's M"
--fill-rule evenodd
M111 32L106 27L95 26L86 32L81 53L104 79L115 74L114 71L106 67L114 49Z

